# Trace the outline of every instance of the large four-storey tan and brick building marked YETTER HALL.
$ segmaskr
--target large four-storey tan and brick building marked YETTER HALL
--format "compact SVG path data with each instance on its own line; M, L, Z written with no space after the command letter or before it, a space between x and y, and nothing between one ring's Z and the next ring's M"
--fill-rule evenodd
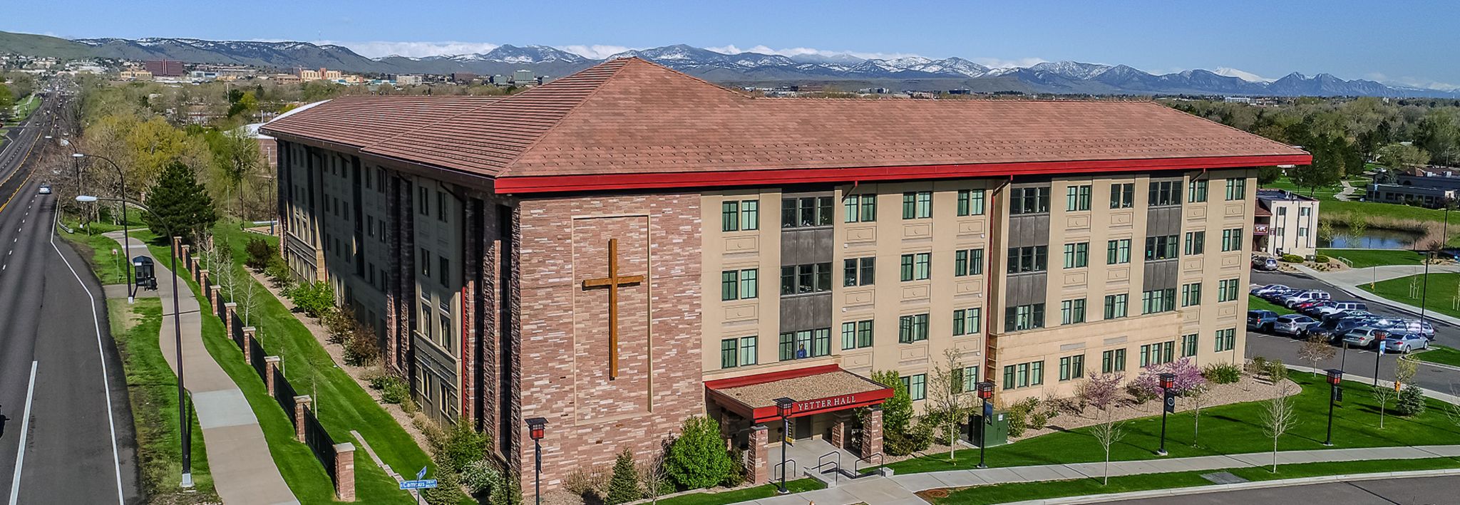
M1256 168L1310 162L1150 102L758 98L638 58L263 133L295 274L529 480L546 417L546 489L699 415L765 480L780 397L876 454L872 371L921 406L948 349L1002 401L1240 361Z

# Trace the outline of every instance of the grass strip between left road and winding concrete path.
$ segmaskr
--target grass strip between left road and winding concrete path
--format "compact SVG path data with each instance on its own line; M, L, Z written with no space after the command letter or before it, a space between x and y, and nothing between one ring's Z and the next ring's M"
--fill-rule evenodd
M182 444L178 432L178 382L162 358L158 331L162 302L156 298L107 301L107 318L127 375L133 429L137 433L137 464L142 486L153 501L166 504L216 504L213 474L207 466L203 429L193 415L193 490L180 487Z

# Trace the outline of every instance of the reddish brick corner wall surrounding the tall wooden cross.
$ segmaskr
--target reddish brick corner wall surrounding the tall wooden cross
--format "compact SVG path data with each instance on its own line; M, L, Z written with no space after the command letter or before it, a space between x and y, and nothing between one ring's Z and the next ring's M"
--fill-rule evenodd
M623 448L645 460L685 417L704 413L699 196L524 200L518 216L520 413L548 417L543 489L555 489L572 469L610 466ZM610 238L619 274L645 276L619 288L615 379L607 289L583 288L607 276ZM517 454L530 469L531 445Z

